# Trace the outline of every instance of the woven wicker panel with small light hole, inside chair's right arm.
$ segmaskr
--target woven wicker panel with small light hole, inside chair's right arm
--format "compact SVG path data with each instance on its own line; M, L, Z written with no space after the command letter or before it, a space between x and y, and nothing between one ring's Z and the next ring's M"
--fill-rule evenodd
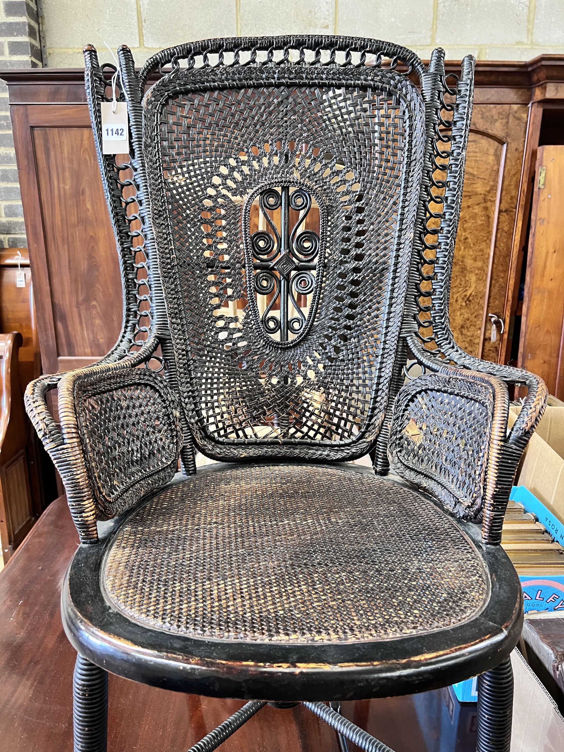
M489 461L492 389L462 379L445 387L447 377L441 374L424 380L404 389L396 401L391 466L438 496L457 517L476 520Z

